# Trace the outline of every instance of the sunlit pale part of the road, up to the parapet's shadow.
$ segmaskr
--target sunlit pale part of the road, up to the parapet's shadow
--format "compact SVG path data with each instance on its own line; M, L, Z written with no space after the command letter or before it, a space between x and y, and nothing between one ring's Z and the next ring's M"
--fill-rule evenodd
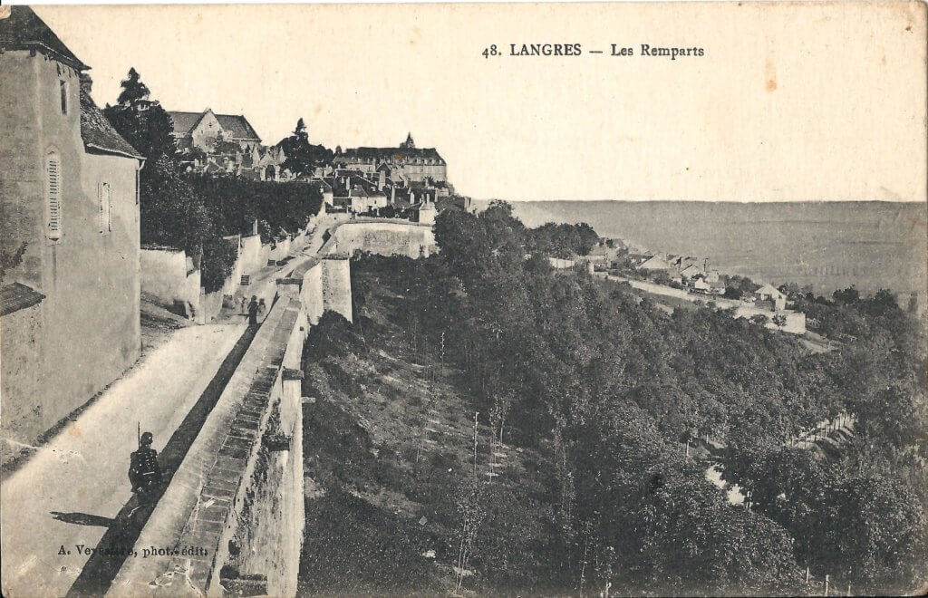
M209 324L175 331L4 480L5 596L68 592L89 556L79 546L96 546L131 498L126 472L137 424L154 434L161 451L244 330L245 324Z

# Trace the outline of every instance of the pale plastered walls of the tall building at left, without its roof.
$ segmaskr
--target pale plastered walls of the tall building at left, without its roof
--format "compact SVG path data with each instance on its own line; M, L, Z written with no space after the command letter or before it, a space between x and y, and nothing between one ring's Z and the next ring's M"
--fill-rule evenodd
M0 56L0 204L5 250L27 242L3 284L45 295L27 316L0 320L4 408L30 414L4 432L29 441L84 404L135 361L139 327L138 206L135 159L84 152L80 79L70 67L28 51ZM59 82L67 89L61 113ZM62 234L46 237L45 156L60 160ZM98 225L97 184L110 183L111 231ZM6 339L29 338L34 359ZM14 407L16 405L16 407Z

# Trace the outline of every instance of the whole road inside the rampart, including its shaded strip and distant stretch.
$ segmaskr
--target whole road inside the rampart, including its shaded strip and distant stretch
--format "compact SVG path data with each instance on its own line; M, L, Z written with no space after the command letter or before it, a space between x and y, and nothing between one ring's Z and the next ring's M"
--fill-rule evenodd
M263 270L257 294L273 298L274 274L292 267ZM3 480L0 534L16 547L4 551L3 595L105 590L99 583L109 584L125 554L94 555L95 547L113 545L114 535L131 546L153 507L136 508L127 477L137 426L154 435L165 475L173 475L251 343L245 318L224 315L174 331Z

